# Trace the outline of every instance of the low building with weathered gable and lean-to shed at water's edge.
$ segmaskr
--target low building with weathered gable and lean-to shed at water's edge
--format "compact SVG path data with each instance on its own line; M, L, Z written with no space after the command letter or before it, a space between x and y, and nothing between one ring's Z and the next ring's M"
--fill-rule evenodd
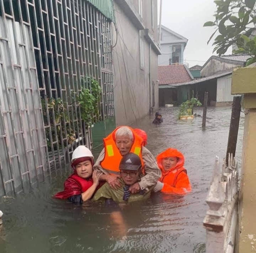
M201 69L200 79L176 83L178 93L194 94L203 102L204 93L208 92L208 104L213 106L230 105L232 72L234 68L243 67L248 55L211 56Z

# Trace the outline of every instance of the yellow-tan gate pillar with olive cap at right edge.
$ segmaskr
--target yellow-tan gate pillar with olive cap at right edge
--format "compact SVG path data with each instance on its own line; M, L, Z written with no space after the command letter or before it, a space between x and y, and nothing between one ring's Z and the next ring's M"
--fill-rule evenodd
M245 109L236 252L249 253L256 248L255 226L252 225L256 223L256 63L233 71L232 94L244 95Z

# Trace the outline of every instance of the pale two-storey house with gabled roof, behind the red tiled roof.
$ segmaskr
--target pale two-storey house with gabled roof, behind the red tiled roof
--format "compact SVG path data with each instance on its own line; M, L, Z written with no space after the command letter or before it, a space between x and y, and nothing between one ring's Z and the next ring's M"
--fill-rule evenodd
M162 25L160 36L161 55L158 56L158 65L183 64L183 53L187 41L187 38Z

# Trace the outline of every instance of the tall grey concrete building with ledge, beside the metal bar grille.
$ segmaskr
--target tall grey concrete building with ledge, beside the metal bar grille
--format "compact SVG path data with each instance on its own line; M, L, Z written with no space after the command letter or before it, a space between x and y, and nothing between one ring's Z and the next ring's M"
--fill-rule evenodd
M115 0L113 27L116 125L127 125L158 107L157 1Z

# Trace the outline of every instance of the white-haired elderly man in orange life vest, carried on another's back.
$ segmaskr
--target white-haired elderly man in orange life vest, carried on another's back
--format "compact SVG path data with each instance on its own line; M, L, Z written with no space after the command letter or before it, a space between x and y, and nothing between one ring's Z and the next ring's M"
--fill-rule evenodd
M100 180L107 181L114 189L121 187L119 178L119 163L128 153L135 153L141 159L142 171L145 176L140 182L129 187L131 193L138 193L157 183L161 177L156 160L151 152L143 146L144 140L130 127L120 126L104 139L104 149L101 151L94 168L104 173Z

